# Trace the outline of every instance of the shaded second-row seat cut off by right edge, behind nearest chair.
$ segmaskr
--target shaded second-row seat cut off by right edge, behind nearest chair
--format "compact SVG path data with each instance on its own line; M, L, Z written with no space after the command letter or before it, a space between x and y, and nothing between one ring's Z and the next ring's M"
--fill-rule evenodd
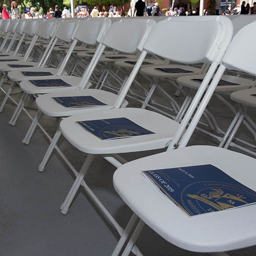
M256 88L234 92L230 95L230 98L233 101L256 108L256 96L253 96L252 94L256 95Z

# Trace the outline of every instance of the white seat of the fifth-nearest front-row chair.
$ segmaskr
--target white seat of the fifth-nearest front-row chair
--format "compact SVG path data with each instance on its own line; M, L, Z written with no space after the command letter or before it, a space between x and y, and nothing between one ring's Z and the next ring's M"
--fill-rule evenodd
M8 72L8 78L11 80L11 81L23 81L23 80L29 80L29 79L37 79L38 76L25 76L22 71L31 71L31 72L50 72L52 73L53 75L56 75L57 73L57 69L55 68L19 68L19 69L15 69L13 71L10 71ZM67 72L63 72L62 75L67 75ZM47 76L49 77L49 76ZM52 76L50 76L51 78ZM45 79L46 76L44 76Z

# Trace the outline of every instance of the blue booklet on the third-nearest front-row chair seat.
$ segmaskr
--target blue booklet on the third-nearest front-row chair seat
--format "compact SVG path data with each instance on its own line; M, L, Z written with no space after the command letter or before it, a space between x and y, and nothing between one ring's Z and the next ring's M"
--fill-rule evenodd
M106 104L92 96L53 97L53 99L65 106L65 108L80 108L82 106L105 106Z

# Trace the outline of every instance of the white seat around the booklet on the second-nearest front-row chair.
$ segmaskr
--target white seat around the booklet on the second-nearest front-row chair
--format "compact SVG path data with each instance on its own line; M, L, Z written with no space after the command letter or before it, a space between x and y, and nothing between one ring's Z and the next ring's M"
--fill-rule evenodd
M120 117L128 118L155 134L101 140L75 123L76 121ZM113 110L95 109L89 110L84 114L68 117L61 121L60 130L66 139L82 152L89 154L112 154L164 148L165 144L173 138L178 126L179 123L152 111L123 108Z

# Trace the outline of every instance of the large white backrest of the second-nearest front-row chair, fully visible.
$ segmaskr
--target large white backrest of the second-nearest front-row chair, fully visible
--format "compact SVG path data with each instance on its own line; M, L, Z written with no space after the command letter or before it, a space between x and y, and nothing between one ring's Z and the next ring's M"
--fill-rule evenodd
M174 40L174 34L166 31L180 33ZM157 23L144 49L182 63L219 63L232 33L231 20L224 16L170 17Z

